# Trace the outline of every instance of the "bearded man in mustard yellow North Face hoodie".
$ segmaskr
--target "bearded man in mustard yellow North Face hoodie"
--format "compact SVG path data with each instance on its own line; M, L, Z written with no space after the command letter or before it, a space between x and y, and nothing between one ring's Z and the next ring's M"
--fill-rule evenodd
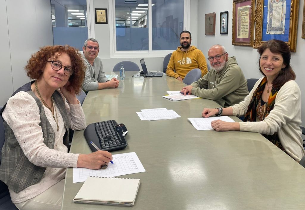
M191 46L191 41L192 35L189 31L182 31L180 33L181 46L170 57L166 69L167 76L175 77L182 82L185 75L192 69L200 69L201 77L208 72L206 58L201 50Z

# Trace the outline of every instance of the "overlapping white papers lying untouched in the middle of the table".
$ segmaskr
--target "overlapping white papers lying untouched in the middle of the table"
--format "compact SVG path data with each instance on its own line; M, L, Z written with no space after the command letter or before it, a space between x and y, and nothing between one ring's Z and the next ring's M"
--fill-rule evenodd
M141 120L173 119L181 117L172 109L163 111L137 112L137 114Z

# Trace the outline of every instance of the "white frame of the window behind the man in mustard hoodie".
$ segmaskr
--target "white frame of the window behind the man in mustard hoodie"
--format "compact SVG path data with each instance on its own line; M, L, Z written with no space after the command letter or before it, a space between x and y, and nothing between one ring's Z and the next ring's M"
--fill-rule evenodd
M87 0L87 5L90 6L90 11L91 5L88 4L88 1L92 0ZM152 11L152 0L148 0L148 8L149 11ZM109 43L110 43L110 58L153 58L153 57L165 57L167 54L172 53L173 50L152 50L152 27L148 27L148 36L149 36L149 50L128 50L128 51L117 51L116 50L116 28L115 28L115 1L113 0L108 0L108 5L109 5ZM91 14L91 12L90 12ZM94 20L94 12L90 15L90 19ZM149 12L148 15L149 19L149 26L152 25L152 12ZM91 21L93 22L93 21ZM89 24L88 24L89 25ZM184 17L183 17L183 30L188 30L189 31L190 27L190 0L184 0ZM91 29L88 28L88 35L94 34L94 24L91 26ZM91 31L91 33L90 33ZM92 33L93 31L93 33Z

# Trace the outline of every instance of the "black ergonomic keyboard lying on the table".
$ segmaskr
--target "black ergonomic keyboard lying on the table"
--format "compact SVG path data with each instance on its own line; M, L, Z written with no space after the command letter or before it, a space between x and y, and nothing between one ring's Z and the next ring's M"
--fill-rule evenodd
M92 152L97 149L91 142L100 150L114 151L124 149L127 146L126 135L127 129L124 124L118 124L115 120L92 123L84 131L85 139Z

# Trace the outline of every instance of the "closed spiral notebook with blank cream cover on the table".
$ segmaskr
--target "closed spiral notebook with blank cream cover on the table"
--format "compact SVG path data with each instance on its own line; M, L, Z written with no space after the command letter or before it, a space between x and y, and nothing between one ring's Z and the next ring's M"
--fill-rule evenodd
M90 176L73 199L74 203L133 206L140 179Z

